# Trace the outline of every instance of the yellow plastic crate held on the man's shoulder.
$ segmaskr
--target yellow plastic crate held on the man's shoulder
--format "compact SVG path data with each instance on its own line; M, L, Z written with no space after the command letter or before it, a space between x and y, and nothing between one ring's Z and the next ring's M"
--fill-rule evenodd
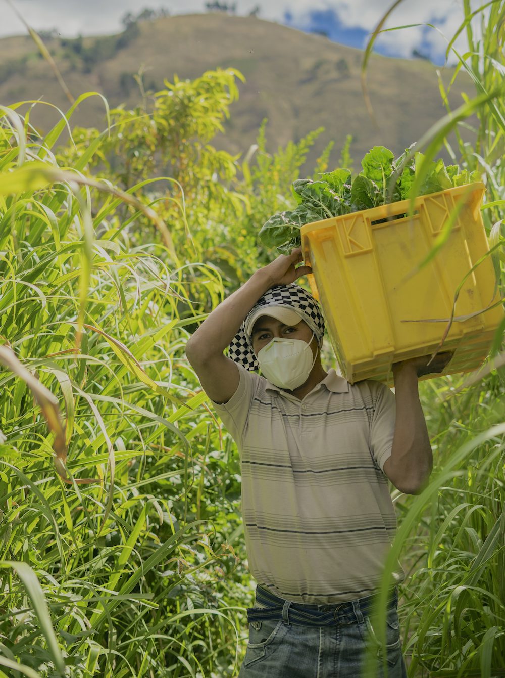
M418 197L412 216L405 216L410 201L403 200L302 227L312 291L321 302L336 358L349 382L376 379L391 384L393 363L431 355L439 346L458 286L489 252L480 211L484 193L484 184L477 182ZM459 207L447 243L416 272ZM464 281L455 317L498 302L495 286L489 256ZM443 345L454 357L444 374L479 367L503 317L499 304L454 321Z

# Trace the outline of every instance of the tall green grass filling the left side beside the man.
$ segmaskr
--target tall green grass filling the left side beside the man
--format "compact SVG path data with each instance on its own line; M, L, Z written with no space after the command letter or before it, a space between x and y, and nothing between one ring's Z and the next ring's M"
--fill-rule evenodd
M236 557L208 518L233 513L229 452L184 358L191 291L216 304L219 273L188 275L164 224L133 242L160 226L145 186L34 137L2 109L0 675L220 675Z

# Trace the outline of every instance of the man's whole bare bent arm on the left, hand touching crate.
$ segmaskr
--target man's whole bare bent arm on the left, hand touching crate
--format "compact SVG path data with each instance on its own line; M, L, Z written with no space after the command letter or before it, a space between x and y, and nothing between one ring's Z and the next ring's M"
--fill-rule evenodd
M289 256L282 254L256 271L204 320L186 344L186 355L205 393L216 403L226 403L238 388L238 365L223 351L232 342L252 306L273 285L293 283L310 273L309 266L295 265L301 261L301 248Z

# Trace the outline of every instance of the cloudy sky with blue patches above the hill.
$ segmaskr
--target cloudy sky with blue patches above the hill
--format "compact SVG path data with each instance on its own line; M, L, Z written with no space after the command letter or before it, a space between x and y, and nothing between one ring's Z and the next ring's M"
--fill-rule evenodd
M126 12L138 14L144 7L163 7L170 14L204 12L205 0L4 0L0 37L20 35L24 27L12 3L35 30L57 28L62 36L103 35L122 30ZM224 1L224 0L223 0ZM391 0L233 0L236 14L247 15L259 5L259 18L299 28L324 31L330 39L352 47L364 47L385 14ZM403 0L385 27L420 24L383 33L376 51L388 56L410 57L414 50L437 64L445 60L447 38L462 21L462 0ZM433 24L430 28L425 24ZM444 37L445 36L445 37ZM464 49L464 38L457 43Z

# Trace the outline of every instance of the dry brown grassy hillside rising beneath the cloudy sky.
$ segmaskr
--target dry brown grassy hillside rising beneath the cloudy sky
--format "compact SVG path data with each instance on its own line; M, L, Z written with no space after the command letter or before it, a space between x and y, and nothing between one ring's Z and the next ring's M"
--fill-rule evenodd
M123 101L133 106L141 97L132 77L139 68L148 89L161 88L163 79L171 81L174 73L193 78L217 66L238 68L246 83L240 84L240 100L232 105L226 135L215 140L232 153L247 151L265 117L271 148L323 125L326 132L313 157L334 140L336 159L347 134L354 138L355 159L374 144L400 153L445 113L435 66L424 60L374 56L368 84L376 127L361 92L359 49L253 17L174 16L135 24L135 30L125 35L47 43L72 94L94 90L111 106ZM444 81L451 76L452 69L446 69ZM0 103L37 98L68 108L49 64L31 39L1 39ZM453 106L461 102L456 89L449 99ZM47 130L57 113L37 106L31 119ZM100 98L81 104L72 118L75 123L103 128Z

